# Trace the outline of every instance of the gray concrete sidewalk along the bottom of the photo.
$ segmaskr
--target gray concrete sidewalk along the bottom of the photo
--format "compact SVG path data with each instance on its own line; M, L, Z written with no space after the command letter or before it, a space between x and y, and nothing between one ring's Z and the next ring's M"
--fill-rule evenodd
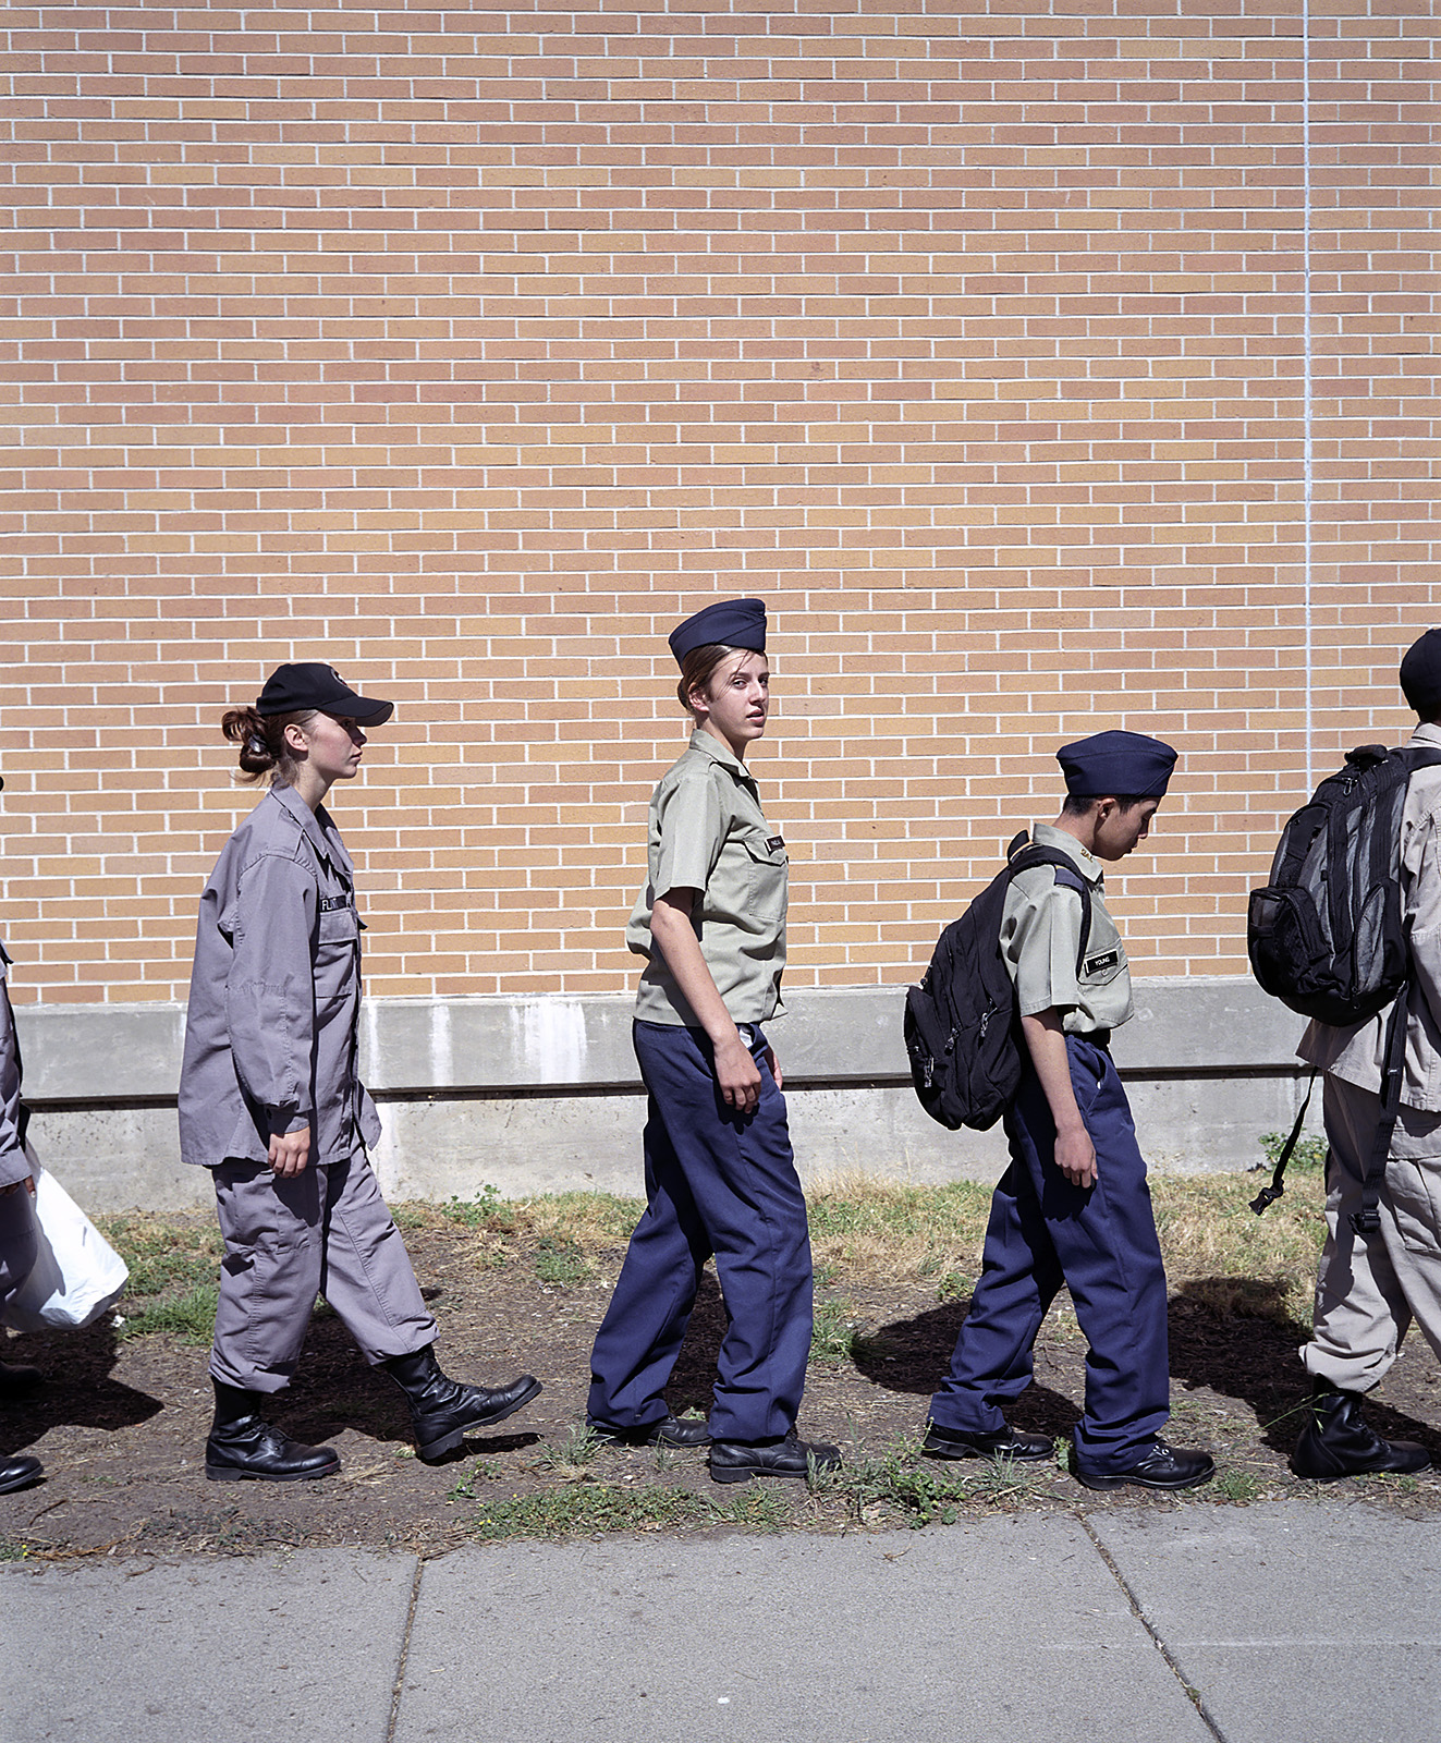
M1441 1522L1364 1504L14 1563L0 1607L3 1743L1441 1736Z

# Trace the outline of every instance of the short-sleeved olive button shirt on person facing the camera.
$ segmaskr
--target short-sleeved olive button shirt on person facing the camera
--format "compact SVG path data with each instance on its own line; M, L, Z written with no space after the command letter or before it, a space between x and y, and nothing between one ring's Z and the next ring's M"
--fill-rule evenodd
M782 1011L786 844L765 821L751 772L709 732L692 734L652 793L648 873L626 927L631 950L648 957L636 1018L699 1027L650 934L655 901L673 889L700 892L690 924L732 1020L763 1023Z

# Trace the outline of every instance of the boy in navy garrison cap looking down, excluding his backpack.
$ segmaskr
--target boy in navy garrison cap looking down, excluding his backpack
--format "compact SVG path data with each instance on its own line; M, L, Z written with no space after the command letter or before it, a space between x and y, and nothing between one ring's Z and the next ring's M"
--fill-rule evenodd
M1192 1489L1214 1464L1159 1433L1171 1414L1166 1272L1108 1051L1112 1030L1131 1016L1131 976L1101 875L1103 861L1145 840L1176 753L1138 732L1101 732L1063 746L1056 760L1066 802L1054 824L1037 824L1035 844L1070 865L1028 866L1005 889L1000 946L1025 1042L1019 1091L1005 1110L1011 1166L995 1189L981 1278L930 1401L923 1450L1051 1455L1051 1438L1012 1429L1002 1407L1030 1384L1035 1335L1065 1283L1091 1346L1072 1471L1087 1489Z

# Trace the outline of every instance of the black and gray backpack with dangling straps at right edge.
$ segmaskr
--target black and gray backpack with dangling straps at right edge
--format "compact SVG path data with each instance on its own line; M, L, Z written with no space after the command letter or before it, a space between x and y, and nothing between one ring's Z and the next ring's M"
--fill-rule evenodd
M1281 831L1270 882L1251 891L1246 950L1263 992L1300 1016L1345 1028L1394 1000L1385 1041L1382 1121L1366 1173L1357 1232L1378 1227L1378 1164L1385 1166L1401 1100L1410 953L1401 905L1401 814L1417 769L1441 753L1363 744L1317 786ZM1312 1072L1312 1082L1316 1074ZM1260 1213L1282 1194L1310 1091L1281 1149L1272 1183L1251 1204Z

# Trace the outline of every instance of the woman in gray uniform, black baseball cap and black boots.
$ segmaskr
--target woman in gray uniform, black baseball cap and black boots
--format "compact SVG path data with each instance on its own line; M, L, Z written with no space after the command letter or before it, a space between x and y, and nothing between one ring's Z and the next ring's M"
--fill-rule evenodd
M315 1297L406 1393L422 1459L457 1452L540 1391L446 1379L401 1234L366 1149L380 1136L355 1072L361 919L354 866L324 809L359 772L368 701L322 664L281 666L225 736L272 786L230 837L200 898L179 1081L181 1157L214 1175L225 1260L206 1476L291 1482L340 1468L265 1421L289 1386Z

